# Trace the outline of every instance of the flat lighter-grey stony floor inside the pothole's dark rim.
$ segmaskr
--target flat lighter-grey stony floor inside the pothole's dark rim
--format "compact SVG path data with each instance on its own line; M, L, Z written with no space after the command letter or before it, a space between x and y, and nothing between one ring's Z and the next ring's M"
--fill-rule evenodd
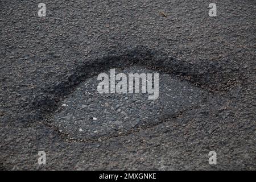
M110 70L105 71L110 75ZM159 73L144 67L115 69L117 73ZM166 73L159 73L159 97L148 93L100 94L100 81L93 76L81 82L59 107L48 115L48 123L73 139L97 140L158 125L163 117L204 102L208 92Z

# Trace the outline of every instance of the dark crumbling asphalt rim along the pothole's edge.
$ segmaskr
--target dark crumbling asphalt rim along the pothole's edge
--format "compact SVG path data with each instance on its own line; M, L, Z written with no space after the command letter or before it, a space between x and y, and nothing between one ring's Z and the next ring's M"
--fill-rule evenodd
M165 52L156 52L144 47L123 51L121 53L112 52L93 61L84 61L84 63L77 66L71 75L65 76L62 79L64 81L45 88L43 93L30 105L30 109L34 110L34 120L43 121L44 125L51 127L59 133L57 128L49 125L47 116L51 115L51 113L59 107L59 102L64 97L71 94L81 82L84 82L90 77L96 76L111 68L124 69L133 65L179 77L190 82L192 85L207 90L209 93L228 92L232 89L233 85L241 83L241 80L238 80L241 76L238 76L236 71L232 71L230 68L223 68L221 64L217 62L208 63L207 61L199 60L196 63L188 63L187 61L177 60L167 55ZM180 111L180 113L184 112L185 111ZM179 115L179 113L175 113L175 115ZM167 121L168 118L175 119L176 116L170 115L168 117L164 116L159 118L161 121L158 122L157 125ZM152 126L147 126L147 128L148 127ZM129 130L123 135L129 135L132 131L138 131L138 129ZM67 139L68 134L61 133L61 135ZM119 137L119 135L108 136L102 139L105 140L113 137ZM70 140L75 140L76 142L94 142L98 139Z

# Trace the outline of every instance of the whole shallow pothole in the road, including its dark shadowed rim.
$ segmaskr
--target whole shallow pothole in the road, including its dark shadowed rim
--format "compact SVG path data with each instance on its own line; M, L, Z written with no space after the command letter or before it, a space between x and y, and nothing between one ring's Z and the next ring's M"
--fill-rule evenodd
M111 68L122 73L159 73L159 98L146 94L100 94L98 74ZM208 100L241 84L240 75L218 63L176 60L144 48L85 61L60 81L45 86L31 103L43 119L66 139L95 141L128 135L180 117ZM172 119L171 119L172 120Z

